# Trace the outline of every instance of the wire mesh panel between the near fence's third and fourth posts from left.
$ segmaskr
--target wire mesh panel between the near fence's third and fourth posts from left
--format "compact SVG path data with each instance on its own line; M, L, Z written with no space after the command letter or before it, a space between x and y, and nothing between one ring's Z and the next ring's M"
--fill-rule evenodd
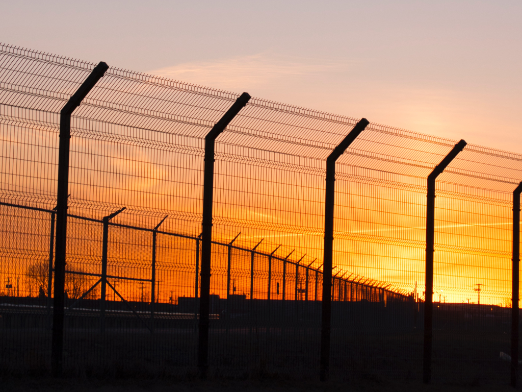
M334 266L349 271L350 283L333 281L331 363L351 377L418 378L421 371L414 292L424 281L424 178L442 156L422 151L430 145L421 137L404 139L369 126L337 164ZM442 141L435 147L447 149ZM410 167L403 157L411 155L431 163ZM394 286L412 295L394 298Z

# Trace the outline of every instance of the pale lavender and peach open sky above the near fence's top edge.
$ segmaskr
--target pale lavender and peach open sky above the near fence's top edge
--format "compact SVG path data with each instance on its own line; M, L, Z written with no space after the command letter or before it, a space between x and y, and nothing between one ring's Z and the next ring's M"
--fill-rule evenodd
M5 1L0 41L522 153L522 2Z

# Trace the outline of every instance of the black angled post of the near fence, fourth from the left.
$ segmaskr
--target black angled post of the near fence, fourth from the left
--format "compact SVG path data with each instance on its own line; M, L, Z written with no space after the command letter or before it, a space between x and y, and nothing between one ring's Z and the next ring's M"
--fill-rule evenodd
M452 162L458 153L466 146L461 140L452 148L435 166L428 176L428 199L426 200L426 274L424 295L424 352L423 352L423 375L424 384L431 381L431 356L433 341L433 258L435 252L435 179Z

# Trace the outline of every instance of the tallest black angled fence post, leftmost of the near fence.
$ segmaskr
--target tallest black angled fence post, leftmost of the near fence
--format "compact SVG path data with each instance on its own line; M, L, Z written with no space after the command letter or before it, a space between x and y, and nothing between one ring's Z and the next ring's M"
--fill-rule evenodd
M105 74L109 66L100 62L84 83L69 98L60 112L60 145L58 149L58 189L56 195L56 255L54 261L54 308L51 343L53 375L62 374L64 335L65 255L67 244L67 197L69 191L70 117L81 101Z

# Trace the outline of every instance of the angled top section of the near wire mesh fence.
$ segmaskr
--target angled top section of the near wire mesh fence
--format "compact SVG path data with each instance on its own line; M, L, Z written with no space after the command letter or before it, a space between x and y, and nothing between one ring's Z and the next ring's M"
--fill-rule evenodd
M96 65L7 44L0 45L0 54L1 102L49 113L45 119L41 115L32 119L49 125L57 124L58 119L51 114L60 112ZM227 91L109 68L75 112L75 117L92 122L88 128L93 137L163 144L161 133L203 139L238 97L239 94ZM357 119L350 117L252 98L230 123L228 132L220 137L221 143L229 146L228 151L221 154L232 153L234 146L247 146L323 161L356 122ZM102 123L105 126L102 127ZM144 139L143 136L148 135L146 131L157 133L155 140ZM371 123L348 149L349 157L344 160L350 166L425 177L425 172L431 170L456 141ZM201 154L201 143L193 147ZM471 176L488 183L511 185L522 177L519 162L522 162L520 154L470 144L446 171L453 174L450 178Z

